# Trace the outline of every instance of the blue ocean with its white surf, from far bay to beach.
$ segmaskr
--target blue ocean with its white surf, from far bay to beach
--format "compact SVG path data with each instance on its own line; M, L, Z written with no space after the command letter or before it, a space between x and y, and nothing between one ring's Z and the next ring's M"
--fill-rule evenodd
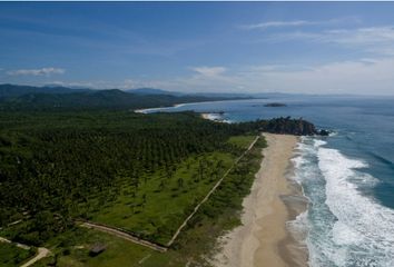
M283 102L286 107L265 107ZM228 122L304 118L329 137L303 137L293 158L308 209L288 224L306 233L309 266L394 266L394 98L292 96L179 105Z

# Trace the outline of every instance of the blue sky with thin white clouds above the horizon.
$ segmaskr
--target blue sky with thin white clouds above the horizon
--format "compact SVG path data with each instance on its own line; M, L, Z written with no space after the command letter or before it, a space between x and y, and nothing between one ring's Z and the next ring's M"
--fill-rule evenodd
M394 2L0 2L0 83L394 95Z

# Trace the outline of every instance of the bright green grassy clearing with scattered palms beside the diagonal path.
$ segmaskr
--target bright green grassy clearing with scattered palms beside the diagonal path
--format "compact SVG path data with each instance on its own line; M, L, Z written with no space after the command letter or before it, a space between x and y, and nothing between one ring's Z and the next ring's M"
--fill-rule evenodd
M174 174L160 170L141 179L138 187L125 180L117 199L97 210L91 220L165 245L235 158L229 152L204 154L178 164Z

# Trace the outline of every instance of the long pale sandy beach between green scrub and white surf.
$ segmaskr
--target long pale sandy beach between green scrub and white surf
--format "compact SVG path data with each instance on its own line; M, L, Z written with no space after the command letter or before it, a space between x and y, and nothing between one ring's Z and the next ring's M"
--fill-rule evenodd
M286 178L298 139L264 136L268 147L243 202L243 225L220 238L221 249L213 260L217 267L307 266L306 249L286 230L286 221L307 204L299 188Z

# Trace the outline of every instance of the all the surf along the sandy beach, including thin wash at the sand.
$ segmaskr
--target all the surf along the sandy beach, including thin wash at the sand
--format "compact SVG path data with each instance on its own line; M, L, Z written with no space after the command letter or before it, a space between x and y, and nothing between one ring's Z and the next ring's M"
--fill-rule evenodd
M368 167L365 161L325 145L303 138L293 158L293 179L303 185L312 205L288 227L307 233L309 265L394 266L394 210L361 190L378 180L363 172Z

